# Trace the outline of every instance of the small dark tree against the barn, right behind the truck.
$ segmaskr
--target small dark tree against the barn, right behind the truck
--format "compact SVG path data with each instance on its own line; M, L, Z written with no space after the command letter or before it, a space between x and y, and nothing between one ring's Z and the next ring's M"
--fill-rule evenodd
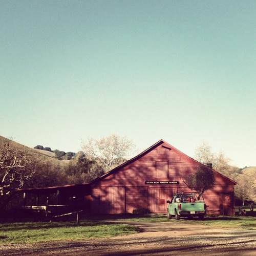
M182 180L191 191L197 193L198 200L206 190L215 187L214 172L211 167L203 164L198 165L195 173L183 176Z

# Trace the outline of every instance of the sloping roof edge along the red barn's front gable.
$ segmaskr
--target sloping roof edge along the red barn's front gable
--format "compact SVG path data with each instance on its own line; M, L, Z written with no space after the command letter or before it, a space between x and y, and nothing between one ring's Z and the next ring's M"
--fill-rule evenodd
M162 144L165 144L165 145L162 145ZM90 184L96 183L97 181L102 180L102 179L104 179L104 178L110 176L111 174L117 172L117 170L119 170L119 169L121 169L121 168L123 168L123 167L125 167L125 166L127 166L127 165L129 165L129 164L131 164L131 163L133 163L133 162L135 162L136 160L138 160L139 158L143 157L144 155L146 155L147 153L151 152L152 150L154 150L156 147L158 147L158 146L160 146L160 145L162 145L162 147L168 148L169 150L174 149L174 150L178 151L180 154L182 154L182 155L184 155L185 157L189 158L190 160L196 162L197 164L201 164L201 163L198 162L197 160L195 160L195 159L193 159L193 158L187 156L187 155L184 154L183 152L177 150L177 148L175 148L174 146L170 145L169 143L167 143L166 141L164 141L163 139L161 139L161 140L159 140L158 142L156 142L154 145L148 147L145 151L141 152L139 155L137 155L137 156L131 158L130 160L128 160L128 161L126 161L126 162L124 162L124 163L118 165L118 166L115 167L114 169L110 170L108 173L105 173L105 174L103 174L102 176L98 177L97 179L91 181ZM222 174L220 174L219 172L217 172L216 170L213 169L213 171L214 171L215 173L221 175L223 178L225 178L225 179L231 181L231 182L234 183L235 185L237 184L236 181L229 179L229 178L226 177L225 175L222 175Z

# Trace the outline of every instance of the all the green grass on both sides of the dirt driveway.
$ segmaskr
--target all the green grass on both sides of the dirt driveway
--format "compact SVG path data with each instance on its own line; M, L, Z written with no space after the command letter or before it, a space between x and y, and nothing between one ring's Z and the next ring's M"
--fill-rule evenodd
M120 221L131 225L121 224ZM206 217L180 221L168 220L166 215L107 215L83 216L79 226L75 221L66 222L20 222L0 223L0 244L33 243L56 240L80 240L92 238L109 238L137 233L142 230L132 225L133 222L186 222L223 228L256 229L254 217Z

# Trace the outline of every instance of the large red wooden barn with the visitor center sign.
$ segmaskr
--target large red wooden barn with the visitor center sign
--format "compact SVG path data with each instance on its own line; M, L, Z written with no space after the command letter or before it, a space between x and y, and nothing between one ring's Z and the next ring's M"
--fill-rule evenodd
M166 201L190 189L182 176L195 172L199 162L164 140L147 148L91 182L91 213L121 214L137 208L166 212ZM216 186L203 194L208 212L234 215L234 185L214 170Z

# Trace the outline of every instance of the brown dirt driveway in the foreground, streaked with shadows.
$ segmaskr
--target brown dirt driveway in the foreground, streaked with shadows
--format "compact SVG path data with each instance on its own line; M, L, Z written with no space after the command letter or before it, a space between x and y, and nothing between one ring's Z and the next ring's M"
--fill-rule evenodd
M1 255L256 255L256 230L131 223L142 233L109 239L1 245Z

